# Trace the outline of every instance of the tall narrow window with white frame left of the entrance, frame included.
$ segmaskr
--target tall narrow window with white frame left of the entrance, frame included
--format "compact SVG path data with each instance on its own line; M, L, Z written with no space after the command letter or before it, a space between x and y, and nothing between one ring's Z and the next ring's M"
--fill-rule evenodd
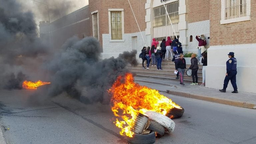
M124 33L123 9L109 9L111 40L122 40Z

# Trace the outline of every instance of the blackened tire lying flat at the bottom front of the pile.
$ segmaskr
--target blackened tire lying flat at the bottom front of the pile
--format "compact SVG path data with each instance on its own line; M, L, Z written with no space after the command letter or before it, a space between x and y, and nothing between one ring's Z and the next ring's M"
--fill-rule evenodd
M155 132L151 131L149 134L135 134L132 138L128 138L127 142L130 144L153 144L156 141Z

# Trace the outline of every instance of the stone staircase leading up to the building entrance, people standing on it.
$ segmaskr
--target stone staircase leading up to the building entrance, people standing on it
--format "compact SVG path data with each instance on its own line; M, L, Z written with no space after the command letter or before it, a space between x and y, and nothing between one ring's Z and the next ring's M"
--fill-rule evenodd
M144 63L144 66L146 67L146 61ZM127 68L133 72L136 73L137 77L150 77L150 78L155 78L155 79L160 79L160 80L176 80L177 82L179 82L179 79L175 79L176 78L176 74L174 74L174 70L175 70L175 65L174 62L172 61L162 61L162 69L163 70L157 70L157 67L152 67L151 63L149 65L149 69L142 69L142 64L138 64L138 66L127 66ZM187 64L186 68L188 69L190 66L190 64ZM202 65L198 65L199 66L199 70L197 72L197 76L198 76L198 82L202 83ZM192 82L192 77L191 76L187 76L186 73L184 74L184 81L189 81Z

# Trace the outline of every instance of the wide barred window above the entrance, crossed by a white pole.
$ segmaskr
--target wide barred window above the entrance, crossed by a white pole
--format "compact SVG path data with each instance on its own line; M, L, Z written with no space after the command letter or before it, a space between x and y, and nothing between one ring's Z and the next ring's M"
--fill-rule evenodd
M179 22L179 1L165 5L172 23ZM153 8L153 27L171 24L163 5Z

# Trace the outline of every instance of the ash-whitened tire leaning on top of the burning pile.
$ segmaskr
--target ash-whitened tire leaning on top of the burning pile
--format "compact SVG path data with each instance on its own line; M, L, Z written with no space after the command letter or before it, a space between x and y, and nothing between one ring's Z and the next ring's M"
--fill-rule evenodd
M166 133L172 133L174 131L175 123L169 117L153 111L147 111L146 114L149 117L149 120L164 126L167 129L167 131L165 131Z

